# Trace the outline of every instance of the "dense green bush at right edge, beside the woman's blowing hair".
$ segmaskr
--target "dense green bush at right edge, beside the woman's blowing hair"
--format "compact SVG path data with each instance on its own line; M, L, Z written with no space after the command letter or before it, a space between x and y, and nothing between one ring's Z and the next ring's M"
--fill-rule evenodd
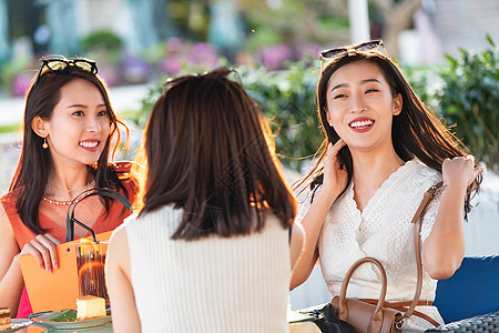
M489 36L490 49L481 54L461 49L447 56L440 71L441 89L435 90L438 110L467 148L488 168L499 171L499 48Z

